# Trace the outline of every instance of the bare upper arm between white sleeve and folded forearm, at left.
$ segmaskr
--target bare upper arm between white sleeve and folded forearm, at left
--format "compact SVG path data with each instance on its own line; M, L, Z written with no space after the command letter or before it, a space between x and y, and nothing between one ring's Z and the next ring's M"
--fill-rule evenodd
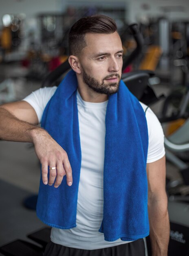
M11 114L22 121L26 121L30 124L39 124L34 108L26 101L6 103L0 107L8 110Z

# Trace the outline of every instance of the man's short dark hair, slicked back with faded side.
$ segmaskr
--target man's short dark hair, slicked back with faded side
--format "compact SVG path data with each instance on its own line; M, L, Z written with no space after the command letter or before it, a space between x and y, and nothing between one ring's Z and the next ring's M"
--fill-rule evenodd
M86 47L86 33L111 34L117 31L115 21L105 15L93 15L79 19L69 33L69 54L79 55Z

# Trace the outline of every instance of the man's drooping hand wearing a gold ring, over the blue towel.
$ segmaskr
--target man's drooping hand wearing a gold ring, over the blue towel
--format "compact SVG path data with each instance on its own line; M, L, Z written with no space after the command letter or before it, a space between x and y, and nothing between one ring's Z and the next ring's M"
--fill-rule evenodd
M37 132L33 132L33 144L35 153L42 164L42 181L46 185L57 188L66 175L68 186L72 185L72 168L68 160L66 151L46 132L40 128ZM49 170L48 166L56 167L54 170ZM56 179L56 180L55 180Z

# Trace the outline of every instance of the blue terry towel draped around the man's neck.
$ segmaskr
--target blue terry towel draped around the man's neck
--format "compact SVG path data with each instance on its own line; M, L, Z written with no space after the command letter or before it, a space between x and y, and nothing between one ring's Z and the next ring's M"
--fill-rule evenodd
M77 110L77 78L70 71L48 102L42 127L64 148L73 171L73 185L44 185L40 180L37 216L60 229L76 227L81 146ZM148 132L145 113L123 81L108 98L105 116L103 220L106 241L137 240L149 234L146 160ZM90 149L89 149L90 150ZM97 159L98 160L98 159ZM87 193L87 191L86 191Z

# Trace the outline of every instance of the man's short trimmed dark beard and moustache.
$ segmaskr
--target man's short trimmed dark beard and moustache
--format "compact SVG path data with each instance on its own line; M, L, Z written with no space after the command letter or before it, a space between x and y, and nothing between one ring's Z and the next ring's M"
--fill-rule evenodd
M83 71L83 81L91 88L94 92L98 92L101 94L111 95L119 90L119 82L120 82L120 75L119 74L111 74L105 76L100 82L99 80L95 79L94 77L88 75L85 70L82 68ZM118 82L116 83L104 83L105 79L110 79L111 77L116 76L118 77Z

